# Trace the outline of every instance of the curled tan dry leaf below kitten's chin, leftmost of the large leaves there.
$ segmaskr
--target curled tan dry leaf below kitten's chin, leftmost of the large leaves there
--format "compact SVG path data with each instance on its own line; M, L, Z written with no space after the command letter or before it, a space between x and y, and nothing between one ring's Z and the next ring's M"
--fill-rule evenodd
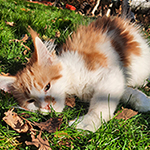
M13 109L8 110L4 114L6 116L3 117L3 120L17 132L25 133L33 129L29 121L25 121L24 123L23 120L15 112L13 112Z

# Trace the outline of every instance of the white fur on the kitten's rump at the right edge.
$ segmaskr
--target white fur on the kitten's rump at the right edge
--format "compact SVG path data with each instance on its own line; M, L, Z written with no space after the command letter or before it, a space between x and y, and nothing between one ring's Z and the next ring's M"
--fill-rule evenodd
M131 65L127 68L127 85L142 86L150 75L150 48L146 40L137 31L133 30L131 32L135 37L135 41L139 42L142 51L140 56L131 56Z

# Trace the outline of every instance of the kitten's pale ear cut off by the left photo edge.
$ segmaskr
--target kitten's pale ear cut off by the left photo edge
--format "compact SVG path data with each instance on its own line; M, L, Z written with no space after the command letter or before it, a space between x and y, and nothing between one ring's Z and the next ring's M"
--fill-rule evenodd
M0 89L4 90L5 92L10 91L10 85L16 81L15 76L2 76L0 75Z

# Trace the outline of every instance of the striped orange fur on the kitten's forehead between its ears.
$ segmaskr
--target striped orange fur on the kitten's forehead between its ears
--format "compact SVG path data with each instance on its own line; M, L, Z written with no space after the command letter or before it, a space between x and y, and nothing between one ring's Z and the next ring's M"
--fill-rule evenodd
M37 63L28 64L23 70L16 74L16 82L11 87L12 94L17 99L20 106L25 105L25 101L30 98L33 86L42 90L50 82L55 82L62 77L60 64L38 66ZM25 107L25 106L24 106Z

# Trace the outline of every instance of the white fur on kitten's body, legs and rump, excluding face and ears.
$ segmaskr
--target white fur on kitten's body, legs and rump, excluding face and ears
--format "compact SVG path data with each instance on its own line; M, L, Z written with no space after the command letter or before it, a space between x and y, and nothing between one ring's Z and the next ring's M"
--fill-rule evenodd
M133 35L135 40L140 43L142 55L131 55L131 65L127 68L123 68L121 65L119 56L111 46L109 39L106 39L103 44L97 43L97 48L103 50L102 52L108 58L108 67L106 68L99 67L97 70L89 71L85 66L82 55L79 55L78 52L67 51L58 57L58 61L61 62L63 67L61 72L63 77L53 85L51 94L57 93L58 97L59 89L60 95L62 93L75 94L90 102L89 111L84 117L79 118L77 128L95 131L101 125L101 114L102 120L105 121L113 117L122 95L124 102L132 95L130 104L136 110L144 112L150 110L150 99L145 94L126 87L128 85L142 85L150 74L149 47L137 32ZM61 97L58 99L58 103L61 101L62 104L63 101L64 104L65 100ZM64 105L60 106L63 109ZM62 109L59 108L59 110ZM55 110L57 111L57 109ZM75 121L71 121L70 125Z

